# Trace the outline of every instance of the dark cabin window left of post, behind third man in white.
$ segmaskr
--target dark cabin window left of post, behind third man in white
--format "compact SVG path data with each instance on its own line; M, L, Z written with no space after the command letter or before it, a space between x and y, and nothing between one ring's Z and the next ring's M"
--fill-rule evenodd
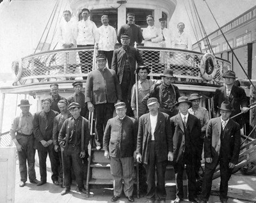
M109 25L117 29L117 9L95 9L91 10L91 20L95 22L97 27L102 26L101 17L102 15L108 15Z

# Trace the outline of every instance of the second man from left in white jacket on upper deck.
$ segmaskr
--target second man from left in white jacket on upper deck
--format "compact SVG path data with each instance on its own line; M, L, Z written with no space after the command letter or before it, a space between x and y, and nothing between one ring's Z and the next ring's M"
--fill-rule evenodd
M88 19L90 16L90 10L83 8L82 20L77 22L77 47L93 47L97 41L98 32L97 27L92 20ZM88 73L92 70L93 52L86 50L78 52L81 71L82 73ZM86 77L83 77L86 79Z

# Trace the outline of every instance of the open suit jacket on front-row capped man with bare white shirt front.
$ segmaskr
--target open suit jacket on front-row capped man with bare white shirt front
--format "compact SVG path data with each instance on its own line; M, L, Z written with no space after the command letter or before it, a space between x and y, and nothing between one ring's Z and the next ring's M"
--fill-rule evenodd
M158 112L156 129L154 132L156 156L158 162L168 160L168 152L173 152L172 128L168 114ZM142 155L142 162L147 164L150 141L152 139L150 127L150 113L144 114L139 120L138 139L136 153Z

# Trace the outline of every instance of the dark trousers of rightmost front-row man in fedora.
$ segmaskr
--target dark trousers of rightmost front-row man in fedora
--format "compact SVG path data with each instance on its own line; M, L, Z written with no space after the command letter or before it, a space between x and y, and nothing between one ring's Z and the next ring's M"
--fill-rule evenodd
M205 162L205 172L204 172L204 179L202 184L202 193L201 198L202 200L209 200L212 188L212 176L214 171L220 162L220 200L228 200L227 193L228 193L228 181L232 174L232 169L228 168L228 162L224 163L223 159L216 163L216 166L212 169L211 163Z

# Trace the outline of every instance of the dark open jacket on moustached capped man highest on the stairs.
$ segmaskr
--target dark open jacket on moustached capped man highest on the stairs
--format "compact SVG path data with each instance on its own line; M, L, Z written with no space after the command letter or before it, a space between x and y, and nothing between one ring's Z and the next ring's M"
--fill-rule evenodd
M130 64L131 84L133 85L135 83L134 71L136 70L136 62L138 65L142 65L144 63L138 49L134 47L127 47L127 50L124 50L123 47L120 47L119 49L114 50L111 69L116 71L119 82L121 84L126 58Z

